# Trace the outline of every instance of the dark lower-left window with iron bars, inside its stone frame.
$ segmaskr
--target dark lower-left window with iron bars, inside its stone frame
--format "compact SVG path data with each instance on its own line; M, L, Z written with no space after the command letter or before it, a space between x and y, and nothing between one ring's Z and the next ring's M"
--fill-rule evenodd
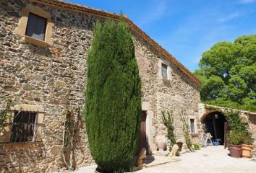
M36 141L36 115L36 112L14 112L11 142Z

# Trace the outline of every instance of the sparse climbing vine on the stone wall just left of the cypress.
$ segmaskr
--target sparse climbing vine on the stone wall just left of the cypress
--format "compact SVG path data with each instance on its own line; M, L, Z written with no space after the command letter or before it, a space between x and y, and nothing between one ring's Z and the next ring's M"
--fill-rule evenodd
M79 131L80 107L69 107L64 112L62 158L68 170L74 170L74 148Z

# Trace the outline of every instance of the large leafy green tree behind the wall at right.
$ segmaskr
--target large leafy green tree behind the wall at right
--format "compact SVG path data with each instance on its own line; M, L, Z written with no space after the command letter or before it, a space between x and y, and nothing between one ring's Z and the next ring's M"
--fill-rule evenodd
M199 66L203 102L256 111L256 35L213 45Z

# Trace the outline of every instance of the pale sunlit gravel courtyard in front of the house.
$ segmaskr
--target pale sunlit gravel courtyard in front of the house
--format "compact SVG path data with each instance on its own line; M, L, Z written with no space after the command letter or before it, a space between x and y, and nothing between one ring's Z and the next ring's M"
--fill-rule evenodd
M208 146L195 153L183 154L181 161L171 162L142 169L137 173L255 173L256 161L254 159L235 159L228 156L229 151L223 146Z

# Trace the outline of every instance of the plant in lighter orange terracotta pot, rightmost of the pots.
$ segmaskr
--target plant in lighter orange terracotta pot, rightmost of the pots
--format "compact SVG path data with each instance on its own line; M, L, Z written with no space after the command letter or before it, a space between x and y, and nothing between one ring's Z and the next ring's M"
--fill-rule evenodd
M251 134L249 132L246 132L244 136L244 142L242 144L242 157L245 158L251 158L252 155L252 143L253 143L253 138L251 137Z

